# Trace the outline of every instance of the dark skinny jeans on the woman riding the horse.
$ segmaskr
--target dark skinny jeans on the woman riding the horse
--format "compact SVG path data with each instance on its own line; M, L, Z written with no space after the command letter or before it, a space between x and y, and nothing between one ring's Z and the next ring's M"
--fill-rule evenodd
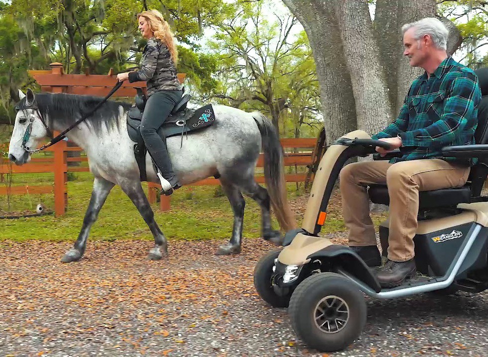
M167 179L172 186L178 182L178 178L173 171L173 165L168 155L166 139L161 139L158 129L168 119L182 96L182 90L160 90L153 93L147 99L140 128L149 154L161 171L163 178Z

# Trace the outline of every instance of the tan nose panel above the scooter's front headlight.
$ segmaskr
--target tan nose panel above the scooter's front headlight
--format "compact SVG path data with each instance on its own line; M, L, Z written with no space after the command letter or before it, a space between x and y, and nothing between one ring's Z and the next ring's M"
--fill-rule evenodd
M307 257L310 254L332 244L334 243L327 238L306 236L302 233L298 233L292 243L281 251L278 260L285 265L300 266L308 263Z

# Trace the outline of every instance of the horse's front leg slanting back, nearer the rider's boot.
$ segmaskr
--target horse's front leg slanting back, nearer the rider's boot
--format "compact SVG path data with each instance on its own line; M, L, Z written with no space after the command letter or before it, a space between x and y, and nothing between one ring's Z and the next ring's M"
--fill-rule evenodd
M144 218L144 221L147 223L151 233L154 236L155 246L153 249L151 249L147 258L152 261L160 260L163 258L163 254L168 254L168 241L154 220L154 212L149 204L149 201L147 200L144 190L142 189L141 183L139 181L120 183L120 187L125 194L129 196L132 203L134 203L134 205L137 207L139 213L141 214L142 218Z

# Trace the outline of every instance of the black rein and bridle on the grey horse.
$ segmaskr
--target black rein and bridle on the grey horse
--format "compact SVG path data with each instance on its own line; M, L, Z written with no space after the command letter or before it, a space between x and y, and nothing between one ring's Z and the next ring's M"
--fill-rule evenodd
M32 109L32 113L30 114L30 122L29 122L29 125L27 126L27 129L25 129L25 133L24 133L24 136L22 138L22 145L21 145L22 148L24 148L24 150L27 151L27 152L29 152L29 153L36 154L36 153L38 153L38 152L40 152L40 151L42 151L44 149L49 148L50 146L53 146L54 144L60 142L61 140L63 140L66 137L65 136L66 133L68 133L70 130L72 130L73 128L75 128L78 124L80 124L85 119L87 119L88 117L90 117L93 113L95 113L95 111L97 111L97 109L103 103L105 103L107 101L107 99L110 98L112 96L112 94L115 93L117 91L117 89L119 89L122 86L122 84L123 84L123 82L117 82L115 84L115 86L113 86L113 88L110 90L110 92L97 104L97 106L95 106L95 108L93 108L91 111L89 111L88 113L86 113L85 115L83 115L80 119L78 119L76 122L74 122L68 129L66 129L65 131L63 131L61 134L59 134L56 137L53 137L53 134L52 134L51 130L49 129L49 127L47 126L46 121L42 117L42 114L39 112L39 108L37 107L37 103L36 103L35 100L30 105L25 105L24 104L24 105L15 106L15 109L16 110L20 110L20 109ZM32 132L32 124L34 123L34 119L35 119L34 113L36 111L37 111L37 114L39 115L39 118L41 119L41 122L44 125L44 128L47 131L47 135L49 136L49 139L51 139L51 141L48 142L47 144L41 146L38 149L31 150L29 147L25 146L25 144L27 144L27 141L29 141L30 133Z

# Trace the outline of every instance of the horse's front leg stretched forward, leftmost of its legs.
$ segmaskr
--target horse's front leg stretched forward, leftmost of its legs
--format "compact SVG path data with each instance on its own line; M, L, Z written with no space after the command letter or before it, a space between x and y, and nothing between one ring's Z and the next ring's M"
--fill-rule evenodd
M110 193L110 190L113 188L114 184L110 181L107 181L104 178L96 177L93 183L93 191L92 197L90 198L90 203L87 208L87 212L85 213L85 218L83 219L83 226L78 236L78 239L75 242L73 248L71 248L68 252L65 253L61 262L63 263L70 263L74 261L78 261L83 257L85 253L85 249L87 247L87 240L88 235L90 234L90 229L92 225L95 223L98 217L98 212L100 212L103 203Z

